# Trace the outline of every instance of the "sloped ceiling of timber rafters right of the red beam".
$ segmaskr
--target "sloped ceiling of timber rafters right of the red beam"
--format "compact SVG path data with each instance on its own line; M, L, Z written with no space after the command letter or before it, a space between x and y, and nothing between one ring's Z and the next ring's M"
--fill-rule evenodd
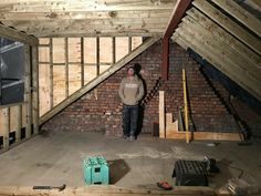
M232 0L195 0L173 40L261 100L261 21Z

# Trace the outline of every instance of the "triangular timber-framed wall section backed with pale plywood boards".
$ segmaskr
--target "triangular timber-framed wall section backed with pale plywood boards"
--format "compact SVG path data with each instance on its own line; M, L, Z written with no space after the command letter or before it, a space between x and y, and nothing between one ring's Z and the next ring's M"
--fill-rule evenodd
M46 114L143 43L143 37L40 38L40 124Z

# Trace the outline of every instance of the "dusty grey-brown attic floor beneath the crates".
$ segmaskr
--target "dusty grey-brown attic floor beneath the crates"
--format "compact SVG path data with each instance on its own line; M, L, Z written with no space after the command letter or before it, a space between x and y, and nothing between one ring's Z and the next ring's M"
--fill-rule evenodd
M239 146L236 142L159 140L140 136L128 142L105 137L101 133L44 133L0 154L0 186L61 185L83 186L83 158L103 155L111 164L111 184L124 187L156 187L159 180L171 178L176 159L213 157L221 173L209 177L210 186L220 186L241 174L261 184L261 143Z

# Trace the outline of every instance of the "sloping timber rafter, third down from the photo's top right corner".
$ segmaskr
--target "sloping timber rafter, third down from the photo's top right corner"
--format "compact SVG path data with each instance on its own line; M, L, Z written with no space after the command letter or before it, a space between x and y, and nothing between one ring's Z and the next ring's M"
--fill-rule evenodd
M192 4L211 18L215 22L221 25L223 29L229 31L253 51L255 51L259 55L261 55L261 42L258 38L253 37L246 29L238 25L233 20L226 17L221 11L212 7L208 1L205 0L195 0Z

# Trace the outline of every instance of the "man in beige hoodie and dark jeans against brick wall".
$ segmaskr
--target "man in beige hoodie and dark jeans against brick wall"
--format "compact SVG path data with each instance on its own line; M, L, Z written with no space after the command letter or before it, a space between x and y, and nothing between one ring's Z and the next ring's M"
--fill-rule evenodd
M123 102L123 137L135 140L138 123L139 101L144 96L143 81L135 74L133 66L128 68L127 76L121 82L118 94Z

